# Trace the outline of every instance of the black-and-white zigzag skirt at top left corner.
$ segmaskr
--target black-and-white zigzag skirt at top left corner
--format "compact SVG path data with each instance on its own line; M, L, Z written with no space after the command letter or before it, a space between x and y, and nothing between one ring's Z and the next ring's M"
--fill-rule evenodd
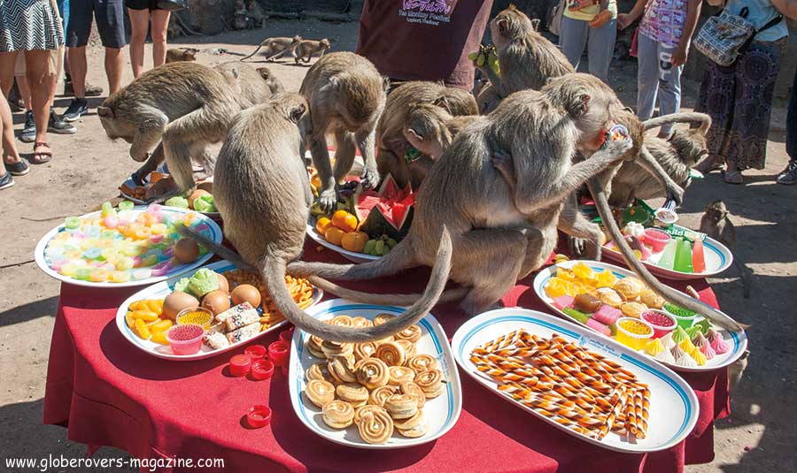
M63 44L50 0L0 0L0 52L58 50Z

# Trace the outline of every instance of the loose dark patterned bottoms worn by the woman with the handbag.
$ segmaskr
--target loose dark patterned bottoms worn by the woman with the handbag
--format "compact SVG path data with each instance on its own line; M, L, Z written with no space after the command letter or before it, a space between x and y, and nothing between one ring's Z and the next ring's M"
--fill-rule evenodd
M708 153L740 170L763 169L770 112L785 40L752 42L733 65L706 65L694 110L711 116Z

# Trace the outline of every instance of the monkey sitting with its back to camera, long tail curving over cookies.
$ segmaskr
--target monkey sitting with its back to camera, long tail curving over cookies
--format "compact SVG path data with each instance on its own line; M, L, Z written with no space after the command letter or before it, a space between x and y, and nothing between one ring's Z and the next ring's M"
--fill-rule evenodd
M337 342L384 339L414 324L435 305L448 278L451 239L443 230L432 277L422 297L386 324L364 329L338 327L299 309L285 286L285 270L287 263L301 255L313 202L302 161L302 135L309 122L301 118L308 110L305 97L285 94L233 118L216 161L213 197L225 222L225 236L240 256L189 227L180 225L178 232L259 272L277 308L298 328Z

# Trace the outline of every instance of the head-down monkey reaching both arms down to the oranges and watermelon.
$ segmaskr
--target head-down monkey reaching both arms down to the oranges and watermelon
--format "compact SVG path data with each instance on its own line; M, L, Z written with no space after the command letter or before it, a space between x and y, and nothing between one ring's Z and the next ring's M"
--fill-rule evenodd
M321 210L337 202L337 183L352 169L354 153L360 149L365 162L360 183L365 188L379 185L376 169L376 122L384 109L390 81L365 57L352 52L334 52L310 66L299 93L310 104L305 120L312 126L306 143L321 179ZM335 134L335 170L329 161L327 134Z

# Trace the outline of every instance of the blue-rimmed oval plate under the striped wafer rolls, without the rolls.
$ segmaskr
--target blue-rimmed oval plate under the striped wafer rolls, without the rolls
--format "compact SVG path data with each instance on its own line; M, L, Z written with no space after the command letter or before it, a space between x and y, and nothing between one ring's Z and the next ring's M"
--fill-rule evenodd
M650 387L651 392L646 438L635 439L609 432L603 439L591 439L553 422L546 416L515 401L507 394L501 393L492 378L476 370L476 366L470 362L470 353L474 348L518 329L544 338L550 338L553 333L558 333L565 339L622 364L623 368L637 375L641 383ZM550 423L555 428L592 445L633 454L656 452L677 445L678 442L686 438L697 422L699 409L697 397L692 388L676 373L613 340L601 338L589 329L570 324L537 310L515 308L484 312L460 326L460 329L454 333L452 347L454 358L460 363L462 370L471 378L476 379L476 382L484 385L501 398L514 403L517 407L530 412L533 416Z

